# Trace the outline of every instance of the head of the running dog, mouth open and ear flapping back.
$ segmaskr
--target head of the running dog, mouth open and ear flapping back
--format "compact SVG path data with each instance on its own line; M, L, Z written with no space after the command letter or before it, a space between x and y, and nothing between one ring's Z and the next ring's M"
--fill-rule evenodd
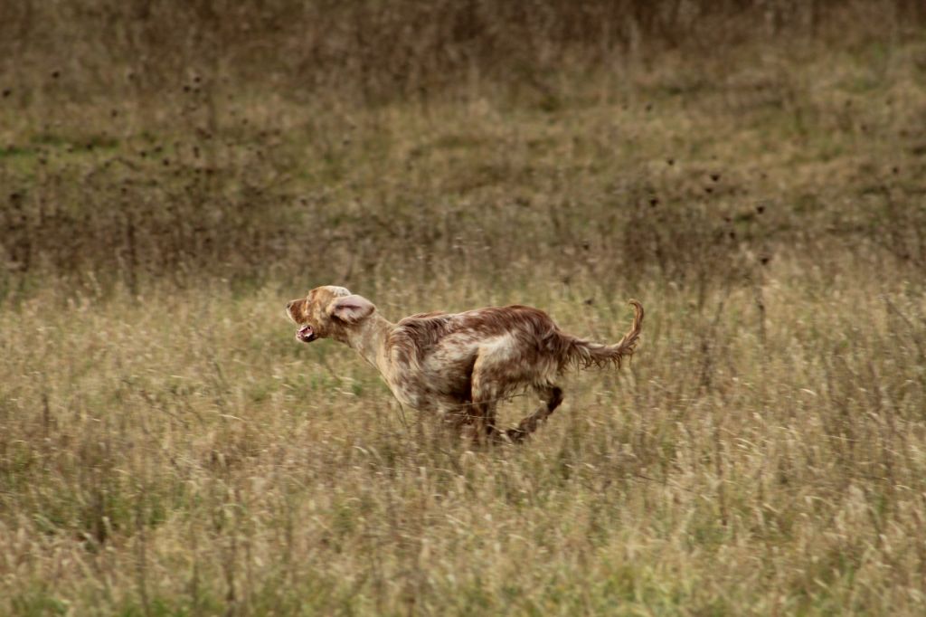
M317 338L344 342L351 328L369 318L375 310L367 298L336 285L316 287L308 296L286 303L286 314L302 326L295 337L303 343Z

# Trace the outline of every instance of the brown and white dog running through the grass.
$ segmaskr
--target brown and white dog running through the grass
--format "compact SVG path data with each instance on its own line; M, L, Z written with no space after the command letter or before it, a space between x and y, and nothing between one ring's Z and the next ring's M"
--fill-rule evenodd
M542 310L519 305L420 313L393 323L367 298L334 285L287 303L286 313L301 326L298 340L333 338L357 350L403 405L438 412L477 440L504 434L519 442L562 402L555 382L569 366L619 367L633 354L644 313L639 302L630 303L633 324L616 345L566 334ZM516 428L499 432L497 403L525 388L544 404Z

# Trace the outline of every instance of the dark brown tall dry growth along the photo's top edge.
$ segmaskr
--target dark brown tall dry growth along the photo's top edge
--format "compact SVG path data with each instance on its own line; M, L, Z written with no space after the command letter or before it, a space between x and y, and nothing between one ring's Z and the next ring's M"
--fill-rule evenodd
M81 97L160 96L192 70L298 100L327 90L365 104L427 99L482 82L555 96L563 69L745 42L845 44L847 32L890 39L926 20L916 0L24 0L2 10L0 66L23 102L44 94L49 64Z

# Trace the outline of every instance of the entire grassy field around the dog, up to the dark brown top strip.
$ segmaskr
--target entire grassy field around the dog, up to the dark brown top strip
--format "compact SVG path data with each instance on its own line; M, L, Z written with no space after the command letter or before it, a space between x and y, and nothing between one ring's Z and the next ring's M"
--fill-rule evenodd
M763 41L414 96L23 51L0 614L926 611L926 38ZM294 341L325 283L644 339L473 448Z

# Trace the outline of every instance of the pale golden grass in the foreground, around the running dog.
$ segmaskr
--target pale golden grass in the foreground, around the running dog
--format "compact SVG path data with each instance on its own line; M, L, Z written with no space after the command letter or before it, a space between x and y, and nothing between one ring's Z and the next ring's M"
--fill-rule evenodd
M53 319L62 296L37 293L0 321L5 611L920 612L926 296L822 283L770 271L764 343L751 293L698 311L645 284L632 365L570 378L529 445L481 451L349 349L294 342L277 287ZM594 308L517 297L616 337L622 302L583 291ZM403 296L380 301L422 308Z

